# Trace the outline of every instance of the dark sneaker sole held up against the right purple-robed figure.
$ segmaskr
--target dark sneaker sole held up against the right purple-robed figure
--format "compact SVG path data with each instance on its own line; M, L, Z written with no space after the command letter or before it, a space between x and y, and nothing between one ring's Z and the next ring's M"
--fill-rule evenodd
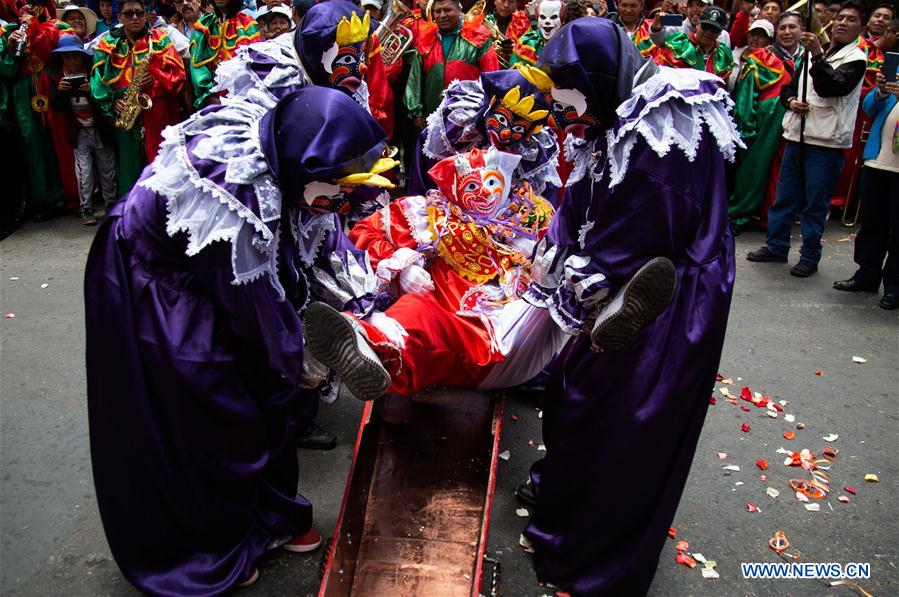
M600 309L590 332L593 344L607 352L624 350L646 324L668 307L676 289L677 273L671 260L650 259Z

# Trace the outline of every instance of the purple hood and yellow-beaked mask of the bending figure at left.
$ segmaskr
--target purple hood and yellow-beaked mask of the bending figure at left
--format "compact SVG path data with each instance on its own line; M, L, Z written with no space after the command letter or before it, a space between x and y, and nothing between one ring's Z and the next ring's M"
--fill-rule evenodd
M387 138L351 97L310 85L281 99L259 125L262 153L286 199L324 211L343 211L346 187L391 188L381 176L398 164L383 157Z

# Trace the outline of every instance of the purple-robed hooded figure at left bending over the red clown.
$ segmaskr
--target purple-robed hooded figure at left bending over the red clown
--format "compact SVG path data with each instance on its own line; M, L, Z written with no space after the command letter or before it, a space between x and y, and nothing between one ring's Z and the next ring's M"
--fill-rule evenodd
M91 458L128 580L220 595L266 550L320 542L291 430L318 399L300 314L310 296L371 308L368 257L332 211L348 187L389 185L385 138L319 87L226 99L165 137L88 257Z

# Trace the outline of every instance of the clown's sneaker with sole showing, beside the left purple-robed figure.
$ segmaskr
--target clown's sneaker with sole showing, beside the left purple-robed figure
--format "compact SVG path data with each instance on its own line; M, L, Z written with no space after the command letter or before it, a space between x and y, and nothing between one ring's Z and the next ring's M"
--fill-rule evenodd
M350 317L325 303L312 303L303 316L309 352L334 370L360 400L384 395L390 374Z

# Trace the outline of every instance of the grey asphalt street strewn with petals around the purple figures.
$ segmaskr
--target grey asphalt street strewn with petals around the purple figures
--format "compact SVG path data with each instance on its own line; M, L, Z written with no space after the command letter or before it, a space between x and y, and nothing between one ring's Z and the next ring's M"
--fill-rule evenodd
M84 382L83 266L94 229L67 217L29 223L0 243L0 593L3 595L137 595L119 573L106 546L94 499L88 449ZM691 552L717 561L718 579L675 563L668 540L652 595L849 595L815 580L744 580L741 562L780 561L768 540L778 529L790 553L804 562L868 562L871 578L859 586L873 595L899 594L899 326L897 312L877 307L879 296L830 289L853 271L851 230L831 223L818 275L799 280L787 265L751 264L748 250L763 236L737 240L737 286L720 371L737 397L716 391L692 473L674 525ZM798 229L796 230L798 237ZM795 261L795 253L793 255ZM17 278L11 280L11 278ZM42 288L42 285L47 286ZM853 357L866 359L853 362ZM820 374L816 374L820 372ZM749 386L775 402L787 401L777 418L739 399ZM126 400L127 396L122 396ZM747 406L744 411L740 406ZM333 529L361 404L324 407L319 421L338 433L339 446L301 452L300 491L316 506L323 534ZM792 414L795 422L787 423ZM517 421L510 419L517 416ZM751 425L749 432L741 424ZM796 424L804 428L797 429ZM783 432L792 430L788 441ZM825 436L838 438L828 443ZM528 446L528 440L534 445ZM534 404L510 396L499 464L488 554L502 564L501 594L551 593L538 586L528 556L517 547L525 522L512 496L530 463L542 453ZM784 447L838 455L830 470L833 492L820 511L807 511L787 481L804 476L787 468ZM663 449L660 446L660 450ZM719 459L717 452L725 453ZM659 462L664 460L660 453ZM598 456L599 457L599 456ZM626 446L604 459L629 458ZM763 474L756 461L770 463ZM634 461L637 470L658 462ZM736 465L739 471L724 470ZM880 482L864 480L876 474ZM640 491L606 479L610 492ZM843 490L854 488L857 495ZM775 488L772 498L766 488ZM848 496L849 503L838 501ZM761 510L750 513L747 502ZM617 516L616 512L600 513ZM139 511L134 512L140 516ZM246 595L308 595L318 586L319 554L272 554Z

